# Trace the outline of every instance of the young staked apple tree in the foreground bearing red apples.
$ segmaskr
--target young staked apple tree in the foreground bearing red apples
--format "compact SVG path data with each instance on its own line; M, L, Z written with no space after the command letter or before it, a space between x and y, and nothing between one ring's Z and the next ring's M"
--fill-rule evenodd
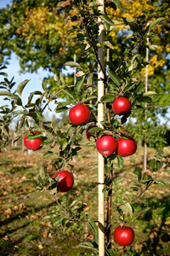
M106 218L105 218L105 255L114 255L111 249L111 228L115 226L115 241L121 245L130 245L133 242L135 234L127 226L127 220L130 222L137 218L141 212L135 212L132 204L139 199L152 184L166 186L159 177L166 168L168 160L163 151L158 150L154 159L150 160L149 168L151 174L142 173L137 166L133 174L136 179L127 189L127 200L122 202L112 194L116 186L120 185L124 177L117 178L114 171L122 169L123 157L135 154L137 143L132 134L124 128L129 116L139 109L144 108L144 102L151 102L154 91L147 93L141 92L143 86L138 73L148 65L143 58L137 54L137 49L142 44L146 44L148 32L151 32L155 26L160 26L163 17L155 19L155 14L145 16L141 15L135 19L123 18L122 20L111 20L107 15L107 9L122 9L122 3L117 0L105 1L105 12L99 7L101 3L95 1L66 1L58 3L57 8L60 12L65 9L72 9L75 15L67 17L67 20L77 21L71 26L68 33L73 45L81 44L83 46L82 55L85 61L81 64L76 61L67 61L65 66L77 68L77 82L67 84L63 74L54 74L54 83L59 90L51 93L48 90L46 80L42 83L42 91L32 91L26 105L22 102L22 91L29 80L21 82L14 92L2 90L1 96L7 96L13 100L13 108L10 110L13 116L20 116L17 120L15 131L16 137L6 137L3 132L3 146L12 143L20 137L23 137L22 128L26 128L25 145L33 150L41 150L42 147L48 148L43 154L43 158L51 158L55 174L50 177L45 168L42 168L35 179L25 181L32 183L39 191L46 190L53 200L58 204L56 214L57 224L61 224L66 229L71 229L71 224L83 226L89 223L94 230L95 236L92 243L82 243L82 247L91 248L94 255L104 255L99 251L98 228L100 224L83 212L85 203L78 200L68 203L68 197L74 184L74 165L72 158L82 149L82 133L86 131L87 147L97 148L99 155L105 163L105 183L102 193L105 194ZM150 25L148 25L150 22ZM99 39L99 25L105 26L105 40ZM127 49L122 55L116 51L111 44L110 33L119 26L124 26L127 30ZM110 39L110 40L109 40ZM99 50L110 49L111 56L114 55L114 61L106 61L107 70L101 63ZM112 60L112 59L111 59ZM103 73L103 78L98 77L99 70ZM104 95L98 99L98 83L104 84ZM60 94L65 94L65 101L59 100ZM34 100L34 96L37 99ZM44 121L43 113L50 103L54 102L55 113L69 112L69 123L63 130L54 130L53 123ZM99 124L98 105L102 104L105 109L104 120ZM29 122L31 119L31 122ZM4 122L3 122L4 123ZM5 124L8 127L8 123ZM7 129L8 130L8 129ZM59 152L56 154L55 147L59 146ZM69 172L68 172L69 170ZM60 192L68 192L65 195ZM113 209L117 211L113 213ZM145 209L147 211L148 209ZM116 217L116 220L114 218ZM117 220L118 218L118 220ZM97 224L96 224L97 223ZM123 235L127 234L127 235ZM127 236L127 241L123 238Z

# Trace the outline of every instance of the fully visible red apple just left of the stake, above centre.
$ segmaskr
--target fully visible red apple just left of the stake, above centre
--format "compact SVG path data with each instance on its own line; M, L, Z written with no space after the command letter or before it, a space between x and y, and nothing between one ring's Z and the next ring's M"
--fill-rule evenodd
M71 108L69 119L73 125L82 125L88 123L90 119L90 111L86 105L77 104Z

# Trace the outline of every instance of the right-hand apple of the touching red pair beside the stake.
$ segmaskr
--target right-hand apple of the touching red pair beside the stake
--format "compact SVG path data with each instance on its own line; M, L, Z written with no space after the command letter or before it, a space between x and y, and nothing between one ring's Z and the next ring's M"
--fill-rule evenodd
M117 140L118 147L116 150L116 154L120 156L127 156L134 154L137 149L137 143L131 137L130 139L120 138Z

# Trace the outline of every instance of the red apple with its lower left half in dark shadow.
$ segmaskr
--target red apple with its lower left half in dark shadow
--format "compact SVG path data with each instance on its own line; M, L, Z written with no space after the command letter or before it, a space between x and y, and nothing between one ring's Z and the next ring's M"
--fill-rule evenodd
M70 191L74 184L74 177L71 174L71 172L59 171L54 174L54 177L56 177L58 175L59 175L59 182L57 184L57 191L59 191L59 192Z

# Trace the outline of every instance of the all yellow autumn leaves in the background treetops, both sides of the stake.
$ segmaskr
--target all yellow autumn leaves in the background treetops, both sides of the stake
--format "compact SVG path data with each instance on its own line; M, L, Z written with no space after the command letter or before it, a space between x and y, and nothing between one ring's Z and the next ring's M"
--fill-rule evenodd
M116 10L107 8L107 14L112 20L121 20L122 18L128 18L133 20L139 15L149 15L151 12L155 11L155 7L147 0L121 0L123 11L119 8ZM66 2L65 2L66 3ZM76 9L71 9L68 15L77 15ZM154 20L154 19L153 19ZM17 33L20 37L42 40L44 37L48 39L49 44L54 47L55 40L61 44L59 49L59 55L65 55L65 49L67 49L68 44L71 44L71 37L67 34L67 31L71 26L75 25L77 22L72 22L65 17L64 12L59 12L56 7L54 9L49 9L48 7L38 7L34 9L26 9L26 18L20 27L17 29ZM125 25L121 24L118 26L118 30L124 31ZM113 30L110 35L111 37L116 36L117 30ZM156 26L155 31L157 34L161 32L160 26ZM166 32L165 32L166 33ZM149 75L154 73L154 69L158 66L163 66L164 61L159 61L157 55L163 52L163 46L161 42L158 42L159 47L156 49L156 55L150 59ZM167 44L167 50L169 49L169 44ZM117 45L116 49L120 52L120 46ZM76 49L75 54L79 54L81 49ZM145 68L142 70L145 73Z

